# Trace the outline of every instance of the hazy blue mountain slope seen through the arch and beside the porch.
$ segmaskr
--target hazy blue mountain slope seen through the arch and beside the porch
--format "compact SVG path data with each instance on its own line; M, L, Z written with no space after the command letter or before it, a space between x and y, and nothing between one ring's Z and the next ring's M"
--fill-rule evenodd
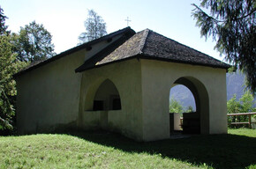
M244 94L244 80L245 75L239 71L227 73L227 100L231 99L234 94L237 94L237 100L241 98L241 96ZM169 100L171 97L179 101L183 105L184 109L192 106L195 110L195 102L192 92L190 92L190 90L184 85L176 85L173 87L169 92Z

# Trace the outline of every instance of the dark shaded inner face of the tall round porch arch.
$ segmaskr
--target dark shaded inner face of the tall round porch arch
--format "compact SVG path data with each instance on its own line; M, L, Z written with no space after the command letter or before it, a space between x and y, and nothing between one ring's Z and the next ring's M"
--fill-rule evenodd
M171 87L183 84L193 94L196 103L196 113L200 118L200 134L209 133L209 97L205 85L195 77L178 77Z

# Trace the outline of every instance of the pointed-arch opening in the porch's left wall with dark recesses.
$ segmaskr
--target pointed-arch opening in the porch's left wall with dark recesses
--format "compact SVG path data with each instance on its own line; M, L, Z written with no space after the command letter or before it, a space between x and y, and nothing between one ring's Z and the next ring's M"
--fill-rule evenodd
M121 99L117 87L109 79L102 82L94 96L94 111L121 110Z

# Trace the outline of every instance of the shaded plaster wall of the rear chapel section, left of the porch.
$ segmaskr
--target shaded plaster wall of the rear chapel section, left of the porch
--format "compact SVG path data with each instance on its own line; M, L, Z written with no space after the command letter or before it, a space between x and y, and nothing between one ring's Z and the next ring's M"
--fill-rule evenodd
M19 134L48 132L61 126L76 126L79 114L81 74L85 60L117 40L104 40L49 62L17 77L17 124Z

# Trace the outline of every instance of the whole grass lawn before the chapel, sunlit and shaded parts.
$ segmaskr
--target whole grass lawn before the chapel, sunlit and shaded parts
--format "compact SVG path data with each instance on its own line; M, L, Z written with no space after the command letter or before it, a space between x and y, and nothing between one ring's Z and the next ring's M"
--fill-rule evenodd
M256 130L137 143L106 132L0 136L0 168L256 168Z

